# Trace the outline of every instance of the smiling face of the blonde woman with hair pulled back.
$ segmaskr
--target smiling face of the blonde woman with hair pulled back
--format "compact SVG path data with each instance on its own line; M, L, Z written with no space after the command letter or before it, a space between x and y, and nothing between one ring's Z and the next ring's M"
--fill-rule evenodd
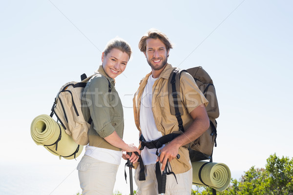
M113 48L106 56L104 52L102 54L102 65L110 78L116 78L123 73L128 60L128 54L116 48Z

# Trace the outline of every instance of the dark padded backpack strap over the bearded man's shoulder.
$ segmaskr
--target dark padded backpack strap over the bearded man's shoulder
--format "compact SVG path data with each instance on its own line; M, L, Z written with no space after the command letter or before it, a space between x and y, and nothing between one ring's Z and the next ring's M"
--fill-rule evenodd
M181 94L180 94L180 76L182 72L187 72L186 70L180 70L174 68L168 79L168 98L170 105L170 113L174 115L178 120L179 130L184 132L183 121L181 115L183 115Z

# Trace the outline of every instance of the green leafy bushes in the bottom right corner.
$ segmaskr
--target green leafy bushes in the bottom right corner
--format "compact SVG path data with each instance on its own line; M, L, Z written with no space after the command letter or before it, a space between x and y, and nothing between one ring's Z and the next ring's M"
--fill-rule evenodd
M191 195L212 195L212 190L201 187ZM217 195L293 195L293 158L271 155L266 169L252 166L239 181L231 179L229 188Z

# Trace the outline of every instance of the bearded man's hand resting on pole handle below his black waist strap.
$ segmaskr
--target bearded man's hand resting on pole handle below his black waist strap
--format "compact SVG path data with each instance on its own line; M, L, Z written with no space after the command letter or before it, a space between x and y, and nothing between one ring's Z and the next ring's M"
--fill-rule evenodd
M156 161L157 162L160 161L162 163L162 168L161 168L162 171L164 171L167 161L170 162L174 158L180 157L178 155L178 149L179 147L177 147L175 144L172 144L172 142L170 142L168 145L166 145L164 148L161 149Z

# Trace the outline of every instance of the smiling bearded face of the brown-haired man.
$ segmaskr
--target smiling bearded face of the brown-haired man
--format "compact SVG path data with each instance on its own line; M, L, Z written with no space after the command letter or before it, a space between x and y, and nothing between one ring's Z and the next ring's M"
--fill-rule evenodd
M146 40L146 60L153 70L161 70L167 64L167 51L165 44L160 39Z

